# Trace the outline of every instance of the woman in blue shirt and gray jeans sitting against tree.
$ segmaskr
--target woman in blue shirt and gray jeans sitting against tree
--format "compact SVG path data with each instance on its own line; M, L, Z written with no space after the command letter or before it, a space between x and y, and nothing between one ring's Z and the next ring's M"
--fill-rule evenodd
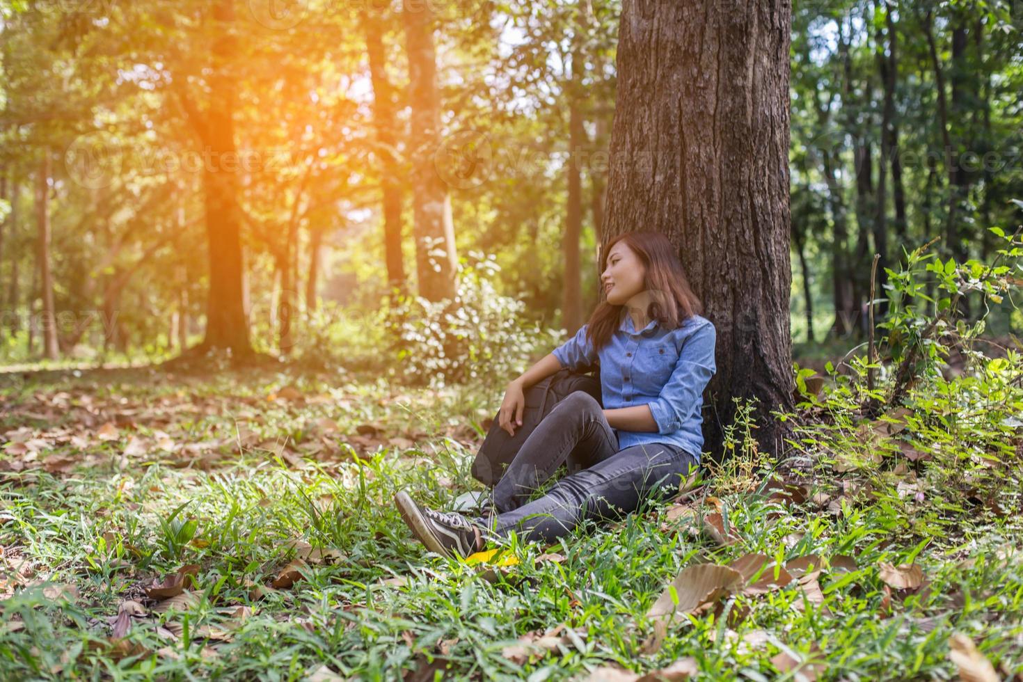
M522 424L524 390L563 367L599 361L604 406L577 391L530 434L494 487L483 514L469 518L417 504L401 491L395 503L426 547L464 557L515 531L525 541L553 541L585 518L634 511L671 496L699 466L703 392L716 371L715 330L701 317L674 246L657 232L629 232L605 252L606 301L573 338L511 381L499 425ZM568 474L530 500L565 464Z

